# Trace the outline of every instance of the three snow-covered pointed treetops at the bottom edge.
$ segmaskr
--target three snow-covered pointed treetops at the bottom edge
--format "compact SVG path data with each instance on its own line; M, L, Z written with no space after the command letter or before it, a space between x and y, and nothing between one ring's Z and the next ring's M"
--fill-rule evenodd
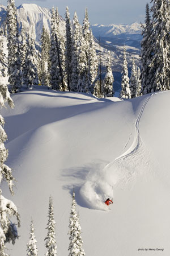
M54 220L54 209L53 200L50 196L49 198L49 210L48 210L48 223L46 225L47 234L44 239L46 247L46 256L57 256L57 242L56 242L56 221ZM81 237L81 226L79 222L79 216L76 212L75 203L75 192L73 191L71 213L69 218L69 256L85 256L84 250L82 248L83 241ZM27 256L37 256L38 249L36 245L35 228L33 225L33 220L31 220L30 237L27 242Z

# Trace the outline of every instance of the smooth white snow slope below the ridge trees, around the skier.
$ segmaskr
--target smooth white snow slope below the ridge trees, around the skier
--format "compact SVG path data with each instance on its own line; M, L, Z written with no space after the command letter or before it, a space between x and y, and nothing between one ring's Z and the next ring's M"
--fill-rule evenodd
M2 114L22 227L11 255L26 254L31 216L45 254L49 195L58 255L68 255L73 186L87 256L169 255L169 96L98 100L38 87L12 95L15 109Z

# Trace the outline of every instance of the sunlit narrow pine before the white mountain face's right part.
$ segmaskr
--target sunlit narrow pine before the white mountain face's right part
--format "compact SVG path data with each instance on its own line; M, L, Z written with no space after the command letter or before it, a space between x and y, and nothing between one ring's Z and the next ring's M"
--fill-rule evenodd
M41 85L49 86L48 69L49 69L50 39L49 39L48 31L45 29L44 26L42 27L40 40L41 40L40 82L41 82Z

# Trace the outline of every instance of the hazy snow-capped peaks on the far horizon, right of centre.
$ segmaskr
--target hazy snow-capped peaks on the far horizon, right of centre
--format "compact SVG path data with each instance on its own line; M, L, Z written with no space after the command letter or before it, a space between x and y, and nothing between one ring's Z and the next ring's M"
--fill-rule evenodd
M141 34L141 24L134 22L128 24L94 24L91 26L94 36L113 37L120 34Z

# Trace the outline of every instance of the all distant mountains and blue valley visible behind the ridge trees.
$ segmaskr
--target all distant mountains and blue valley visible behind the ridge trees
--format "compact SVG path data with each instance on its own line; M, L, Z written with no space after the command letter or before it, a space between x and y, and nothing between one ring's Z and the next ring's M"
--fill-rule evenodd
M19 29L24 27L26 32L35 34L37 46L40 45L40 36L42 27L50 32L50 19L52 10L42 8L34 3L20 5L17 7ZM0 26L6 18L6 6L0 5ZM105 69L108 50L111 51L112 70L114 80L117 81L117 88L120 88L121 67L123 60L123 48L126 47L128 53L129 68L131 59L134 56L137 65L140 65L140 48L141 48L141 25L137 22L128 24L94 24L91 26L92 32L96 38L96 51L99 52L99 36L101 42L101 63L102 69ZM65 20L59 16L59 30L65 34ZM130 71L130 69L129 69ZM118 90L118 89L116 89Z

